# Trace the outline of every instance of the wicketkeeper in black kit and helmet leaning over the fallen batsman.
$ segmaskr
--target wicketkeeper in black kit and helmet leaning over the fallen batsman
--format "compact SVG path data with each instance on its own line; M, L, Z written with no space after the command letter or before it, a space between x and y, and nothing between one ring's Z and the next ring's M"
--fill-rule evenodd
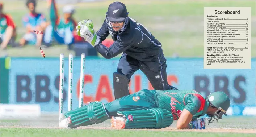
M95 33L91 20L78 23L77 34L83 37L106 59L122 53L113 73L116 99L129 95L129 82L135 71L141 70L155 90L178 90L167 82L166 59L161 43L142 24L128 16L121 2L109 5L106 19ZM101 42L111 35L114 43L108 48Z

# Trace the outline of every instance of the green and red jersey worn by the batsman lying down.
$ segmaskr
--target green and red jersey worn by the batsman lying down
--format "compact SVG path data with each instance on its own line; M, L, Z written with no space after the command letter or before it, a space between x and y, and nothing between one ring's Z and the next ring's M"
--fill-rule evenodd
M159 107L169 110L173 120L178 120L183 109L188 110L193 118L206 114L209 103L203 96L194 90L156 90Z

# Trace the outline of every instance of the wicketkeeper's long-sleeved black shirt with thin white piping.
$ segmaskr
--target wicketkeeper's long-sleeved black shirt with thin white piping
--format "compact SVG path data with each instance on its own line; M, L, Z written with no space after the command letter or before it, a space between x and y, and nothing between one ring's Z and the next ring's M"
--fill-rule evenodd
M115 35L108 29L106 19L96 35L100 37L100 42L95 45L97 51L106 59L113 58L124 52L128 56L140 61L151 61L152 57L162 52L161 43L140 23L129 18L127 28L121 34ZM109 48L101 42L112 36L113 45Z

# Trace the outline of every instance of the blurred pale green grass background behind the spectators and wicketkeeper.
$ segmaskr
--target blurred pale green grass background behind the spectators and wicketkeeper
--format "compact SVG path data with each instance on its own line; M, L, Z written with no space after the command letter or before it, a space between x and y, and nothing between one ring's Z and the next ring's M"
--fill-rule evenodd
M17 25L18 39L25 28L22 17L28 13L25 1L2 1L4 12L11 14ZM108 5L112 1L91 1L74 4L77 21L91 19L95 30L101 27ZM142 23L158 39L166 57L178 54L180 57L203 57L203 7L204 6L248 6L251 7L252 57L255 57L255 1L122 1L127 5L129 16ZM63 4L58 4L62 15ZM49 17L46 1L38 1L37 11ZM58 57L60 53L74 53L65 45L44 49L46 56ZM1 56L40 57L38 48L9 48Z

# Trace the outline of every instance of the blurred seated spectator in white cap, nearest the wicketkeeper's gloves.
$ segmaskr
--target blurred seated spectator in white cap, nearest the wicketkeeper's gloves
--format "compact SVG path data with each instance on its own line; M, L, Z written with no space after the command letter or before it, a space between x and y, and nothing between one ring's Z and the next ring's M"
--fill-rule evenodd
M51 1L55 3L55 1ZM51 6L55 6L51 5ZM55 8L56 10L56 8ZM55 11L56 12L56 11ZM57 13L57 12L56 12ZM73 18L73 14L75 13L75 9L73 6L67 5L63 7L63 18L61 18L59 15L56 18L55 21L55 27L52 25L49 25L45 30L45 36L44 36L44 42L47 46L51 45L52 43L52 36L59 44L66 44L68 45L68 49L72 49L72 44L75 42L82 41L81 37L76 34L76 26L77 23L75 19ZM53 28L54 31L53 31Z

